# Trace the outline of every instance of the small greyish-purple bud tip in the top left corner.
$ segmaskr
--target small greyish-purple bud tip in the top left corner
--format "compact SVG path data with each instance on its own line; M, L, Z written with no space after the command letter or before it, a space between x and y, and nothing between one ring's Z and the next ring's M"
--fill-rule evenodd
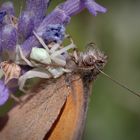
M1 10L6 11L9 15L15 15L14 5L12 2L5 2L1 6Z

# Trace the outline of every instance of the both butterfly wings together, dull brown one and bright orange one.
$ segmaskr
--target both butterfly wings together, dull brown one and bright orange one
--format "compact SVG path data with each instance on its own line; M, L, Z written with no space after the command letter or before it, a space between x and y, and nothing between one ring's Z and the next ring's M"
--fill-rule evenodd
M23 107L18 105L11 110L0 138L79 140L86 118L89 87L83 84L79 75L73 75L70 79L69 87L64 76L56 82L43 84L44 89Z

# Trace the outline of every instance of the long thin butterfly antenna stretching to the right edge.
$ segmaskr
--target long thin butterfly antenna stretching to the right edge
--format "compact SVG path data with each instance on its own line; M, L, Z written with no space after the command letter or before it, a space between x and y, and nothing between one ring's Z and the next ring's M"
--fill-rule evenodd
M114 83L116 83L117 85L121 86L122 88L126 89L127 91L129 91L130 93L140 97L140 94L138 94L137 92L131 90L130 88L128 88L127 86L125 86L124 84L120 83L119 81L113 79L111 76L109 76L108 74L104 73L102 70L100 70L98 67L96 67L100 73L102 73L104 76L106 76L108 79L110 79L111 81L113 81Z

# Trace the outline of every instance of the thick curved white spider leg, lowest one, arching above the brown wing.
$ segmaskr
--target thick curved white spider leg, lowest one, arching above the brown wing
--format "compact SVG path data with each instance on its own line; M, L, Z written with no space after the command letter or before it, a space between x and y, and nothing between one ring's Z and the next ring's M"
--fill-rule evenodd
M25 74L23 74L22 76L20 76L18 80L19 90L21 90L24 93L27 93L27 91L24 90L24 85L28 79L35 78L35 77L48 79L51 78L52 76L50 75L50 73L47 73L46 71L36 70L36 69L30 70Z

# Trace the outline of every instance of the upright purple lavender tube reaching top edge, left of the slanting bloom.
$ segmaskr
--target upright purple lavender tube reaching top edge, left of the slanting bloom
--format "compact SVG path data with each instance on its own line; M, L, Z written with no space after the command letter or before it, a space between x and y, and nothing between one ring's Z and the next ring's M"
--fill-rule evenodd
M32 31L44 19L50 0L26 0L26 9L19 18L18 32L20 42L32 35Z

